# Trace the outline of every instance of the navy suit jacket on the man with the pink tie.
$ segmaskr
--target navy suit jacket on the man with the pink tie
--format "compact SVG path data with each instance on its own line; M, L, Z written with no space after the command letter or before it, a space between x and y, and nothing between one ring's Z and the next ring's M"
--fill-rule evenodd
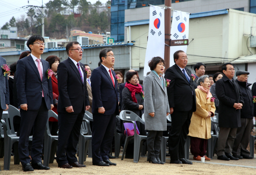
M20 104L27 104L28 110L38 110L41 107L42 89L44 90L44 100L47 109L51 109L52 99L52 79L47 76L49 62L41 59L43 65L43 80L41 81L38 68L32 56L26 56L18 60L16 69L17 95Z

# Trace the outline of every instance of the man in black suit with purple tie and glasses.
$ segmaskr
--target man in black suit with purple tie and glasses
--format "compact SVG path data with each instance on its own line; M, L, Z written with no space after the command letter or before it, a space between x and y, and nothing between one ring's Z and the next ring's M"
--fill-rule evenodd
M58 65L58 167L86 167L78 163L76 146L79 141L84 111L90 109L86 88L86 73L82 59L84 49L79 42L70 42L66 46L66 60Z

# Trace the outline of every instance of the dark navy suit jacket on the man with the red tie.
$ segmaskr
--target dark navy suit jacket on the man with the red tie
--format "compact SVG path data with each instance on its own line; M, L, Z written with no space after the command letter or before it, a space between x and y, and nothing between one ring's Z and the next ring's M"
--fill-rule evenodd
M93 114L112 115L119 114L118 110L118 91L116 73L112 71L115 86L103 65L94 69L91 75L91 86L93 94ZM98 113L98 108L104 107L105 113Z

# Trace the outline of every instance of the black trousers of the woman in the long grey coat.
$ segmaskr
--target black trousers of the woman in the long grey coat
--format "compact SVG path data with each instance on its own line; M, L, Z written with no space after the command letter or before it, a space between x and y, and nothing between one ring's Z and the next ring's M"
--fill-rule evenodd
M159 158L161 149L161 138L163 137L163 131L148 131L147 147L148 158Z

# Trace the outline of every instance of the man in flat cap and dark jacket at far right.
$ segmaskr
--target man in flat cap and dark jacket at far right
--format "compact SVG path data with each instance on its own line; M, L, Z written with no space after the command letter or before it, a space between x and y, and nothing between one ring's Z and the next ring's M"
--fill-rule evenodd
M250 156L250 151L247 150L254 116L253 93L249 88L252 84L247 83L249 74L249 72L241 70L236 72L236 82L244 98L244 107L241 109L241 127L237 129L232 151L232 155L239 159L253 159Z

